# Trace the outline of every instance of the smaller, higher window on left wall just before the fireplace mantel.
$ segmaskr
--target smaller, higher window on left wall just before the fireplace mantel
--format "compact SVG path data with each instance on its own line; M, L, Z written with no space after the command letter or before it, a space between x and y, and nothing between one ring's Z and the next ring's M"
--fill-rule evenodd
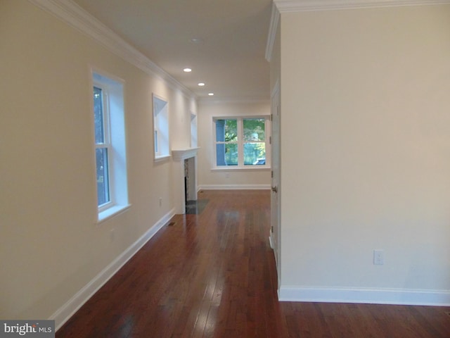
M167 101L153 94L153 142L155 159L170 155L169 108Z

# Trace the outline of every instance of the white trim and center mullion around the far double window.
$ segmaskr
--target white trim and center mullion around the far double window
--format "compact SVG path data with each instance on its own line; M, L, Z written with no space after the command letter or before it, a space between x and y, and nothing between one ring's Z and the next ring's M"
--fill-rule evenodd
M244 165L243 162L243 120L253 118L264 118L265 120L265 144L266 144L266 164L264 165ZM238 165L217 165L216 154L216 120L238 120ZM248 171L248 170L271 170L271 124L270 115L242 115L242 116L213 116L212 117L212 168L211 171Z

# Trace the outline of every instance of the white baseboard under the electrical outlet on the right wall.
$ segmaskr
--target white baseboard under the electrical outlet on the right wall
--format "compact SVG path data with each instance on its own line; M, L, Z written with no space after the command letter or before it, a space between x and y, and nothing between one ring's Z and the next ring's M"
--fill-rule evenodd
M365 289L280 287L279 301L323 303L373 303L392 305L450 306L450 291L415 289Z

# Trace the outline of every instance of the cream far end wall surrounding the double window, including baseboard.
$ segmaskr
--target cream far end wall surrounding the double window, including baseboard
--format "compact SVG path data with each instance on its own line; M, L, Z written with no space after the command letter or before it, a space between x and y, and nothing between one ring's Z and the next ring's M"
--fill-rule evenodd
M201 189L269 189L270 169L212 170L214 117L270 115L269 102L201 102L198 106L198 186Z

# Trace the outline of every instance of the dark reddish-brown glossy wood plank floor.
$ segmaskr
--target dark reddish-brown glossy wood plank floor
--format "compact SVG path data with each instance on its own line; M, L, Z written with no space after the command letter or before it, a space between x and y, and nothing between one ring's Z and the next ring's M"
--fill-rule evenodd
M205 191L56 333L67 337L450 338L450 308L278 302L269 191Z

